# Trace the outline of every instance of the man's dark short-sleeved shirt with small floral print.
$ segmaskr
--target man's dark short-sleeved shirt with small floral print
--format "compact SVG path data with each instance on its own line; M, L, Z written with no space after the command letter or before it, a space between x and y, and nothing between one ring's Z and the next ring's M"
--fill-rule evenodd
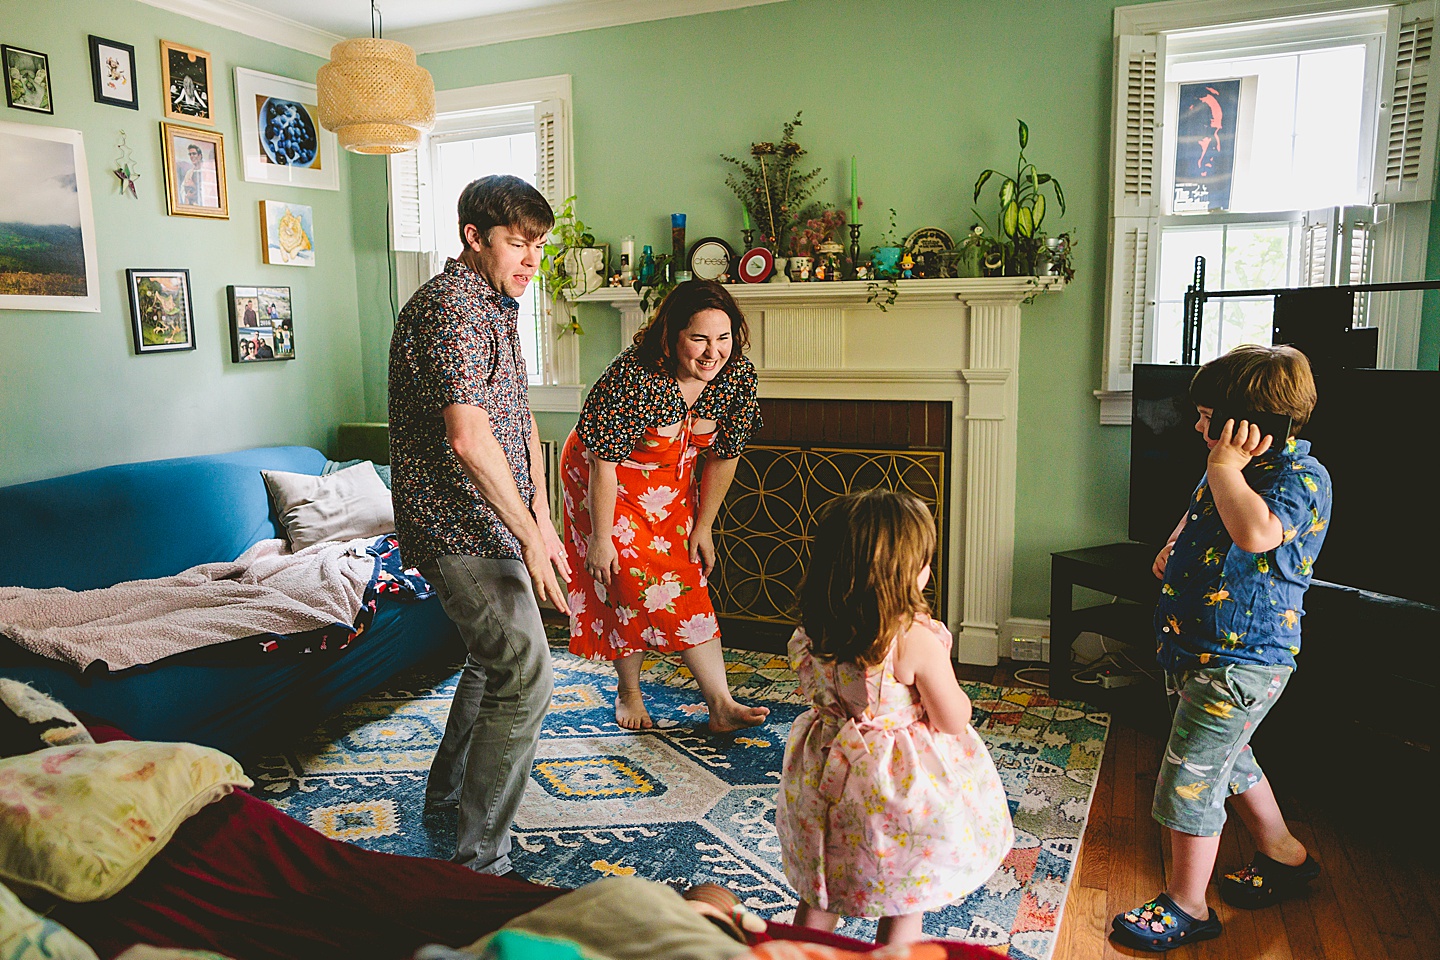
M445 438L441 410L482 407L514 474L530 478L530 399L520 353L520 305L451 259L400 311L390 337L390 469L395 525L408 564L442 556L516 560L520 541L501 522Z

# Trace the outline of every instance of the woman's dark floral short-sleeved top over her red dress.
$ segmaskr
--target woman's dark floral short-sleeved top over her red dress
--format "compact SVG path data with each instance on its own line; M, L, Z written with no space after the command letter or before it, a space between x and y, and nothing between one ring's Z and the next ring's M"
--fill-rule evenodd
M732 357L700 391L690 413L716 422L711 455L726 461L740 456L750 435L760 429L756 389L755 364L742 356ZM685 412L675 379L642 361L635 347L626 347L590 387L576 433L585 449L619 463L645 439L647 427L678 423Z

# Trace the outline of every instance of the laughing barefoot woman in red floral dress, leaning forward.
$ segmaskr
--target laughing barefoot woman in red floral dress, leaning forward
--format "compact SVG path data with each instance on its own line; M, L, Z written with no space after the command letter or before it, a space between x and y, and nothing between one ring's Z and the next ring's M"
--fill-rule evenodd
M570 652L615 661L615 721L628 730L652 725L639 691L647 652L680 651L711 733L769 712L730 695L706 586L716 514L760 426L747 344L724 286L681 284L590 390L564 442Z

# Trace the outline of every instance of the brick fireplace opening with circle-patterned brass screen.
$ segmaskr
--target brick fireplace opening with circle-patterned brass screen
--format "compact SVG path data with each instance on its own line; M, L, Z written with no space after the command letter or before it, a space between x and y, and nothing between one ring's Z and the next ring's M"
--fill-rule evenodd
M716 520L710 592L727 646L783 652L809 563L815 517L852 491L904 489L939 530L926 596L946 617L950 403L762 399L765 426L736 469Z

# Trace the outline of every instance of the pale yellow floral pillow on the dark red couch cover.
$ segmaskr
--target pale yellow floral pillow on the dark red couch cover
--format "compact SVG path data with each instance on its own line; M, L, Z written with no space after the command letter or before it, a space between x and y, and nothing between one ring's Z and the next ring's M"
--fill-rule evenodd
M0 760L0 881L76 902L125 887L240 764L190 743L49 747Z

